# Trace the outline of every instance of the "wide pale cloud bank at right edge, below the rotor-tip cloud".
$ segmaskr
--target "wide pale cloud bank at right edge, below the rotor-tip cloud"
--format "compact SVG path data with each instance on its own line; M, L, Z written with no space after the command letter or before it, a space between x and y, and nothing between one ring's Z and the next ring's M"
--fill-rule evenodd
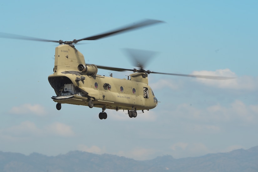
M232 120L239 120L239 124L255 124L258 122L258 104L246 105L240 100L235 100L225 106L216 104L203 109L197 109L188 104L180 104L177 106L177 109L173 110L171 113L175 114L175 117L178 118L202 122L230 122ZM207 126L204 128L208 129ZM220 130L219 127L216 126L210 126L210 129Z

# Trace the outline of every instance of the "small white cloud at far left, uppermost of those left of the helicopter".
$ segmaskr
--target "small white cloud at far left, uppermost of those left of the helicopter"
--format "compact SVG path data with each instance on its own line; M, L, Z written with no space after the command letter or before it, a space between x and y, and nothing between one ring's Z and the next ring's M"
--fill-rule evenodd
M35 115L44 115L46 111L43 106L39 104L22 104L20 106L13 107L10 111L12 114L35 114Z

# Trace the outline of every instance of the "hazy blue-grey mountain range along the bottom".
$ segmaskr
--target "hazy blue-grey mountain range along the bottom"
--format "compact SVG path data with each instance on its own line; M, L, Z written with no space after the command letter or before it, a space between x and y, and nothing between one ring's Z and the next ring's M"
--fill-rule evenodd
M257 172L258 146L228 153L207 154L193 158L174 159L170 155L152 160L137 161L110 154L92 154L71 151L64 155L45 156L38 153L29 156L0 152L2 172L98 172L98 171L176 171L176 172Z

